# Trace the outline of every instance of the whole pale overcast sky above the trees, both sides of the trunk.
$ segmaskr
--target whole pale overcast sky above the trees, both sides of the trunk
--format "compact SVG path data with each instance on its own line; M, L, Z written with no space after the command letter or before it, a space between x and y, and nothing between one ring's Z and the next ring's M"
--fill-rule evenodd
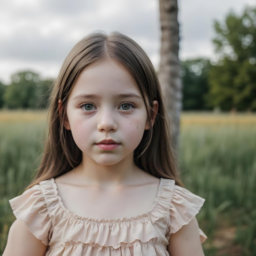
M178 0L180 59L214 58L214 20L256 0ZM94 30L121 31L159 63L158 0L0 0L0 81L32 70L56 77L67 53Z

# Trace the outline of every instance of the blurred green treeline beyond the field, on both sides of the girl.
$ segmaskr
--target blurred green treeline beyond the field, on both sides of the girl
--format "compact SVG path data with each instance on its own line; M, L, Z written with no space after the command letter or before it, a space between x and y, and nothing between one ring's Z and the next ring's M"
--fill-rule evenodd
M216 61L182 62L183 110L256 111L256 8L214 23ZM0 83L0 108L47 108L54 79L24 71Z

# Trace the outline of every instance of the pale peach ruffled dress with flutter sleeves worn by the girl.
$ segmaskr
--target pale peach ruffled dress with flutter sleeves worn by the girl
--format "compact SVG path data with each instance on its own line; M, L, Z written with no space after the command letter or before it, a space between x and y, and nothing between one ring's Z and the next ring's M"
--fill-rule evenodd
M9 202L16 218L48 246L47 256L169 256L171 234L192 220L204 199L161 178L147 213L97 220L70 213L50 179ZM200 237L202 242L207 238L201 230Z

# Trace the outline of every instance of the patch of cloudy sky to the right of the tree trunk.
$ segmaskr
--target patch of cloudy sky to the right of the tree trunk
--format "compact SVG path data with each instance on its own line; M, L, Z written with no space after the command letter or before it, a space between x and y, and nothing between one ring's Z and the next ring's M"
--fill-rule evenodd
M180 22L180 58L214 57L213 24L224 22L230 11L241 14L246 5L255 6L255 0L178 0Z

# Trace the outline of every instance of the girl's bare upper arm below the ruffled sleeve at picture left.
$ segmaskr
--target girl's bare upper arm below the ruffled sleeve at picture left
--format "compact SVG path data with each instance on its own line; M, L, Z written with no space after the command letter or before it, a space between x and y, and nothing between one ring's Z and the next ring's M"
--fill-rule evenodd
M2 256L44 256L46 250L47 246L29 231L22 220L15 220Z

